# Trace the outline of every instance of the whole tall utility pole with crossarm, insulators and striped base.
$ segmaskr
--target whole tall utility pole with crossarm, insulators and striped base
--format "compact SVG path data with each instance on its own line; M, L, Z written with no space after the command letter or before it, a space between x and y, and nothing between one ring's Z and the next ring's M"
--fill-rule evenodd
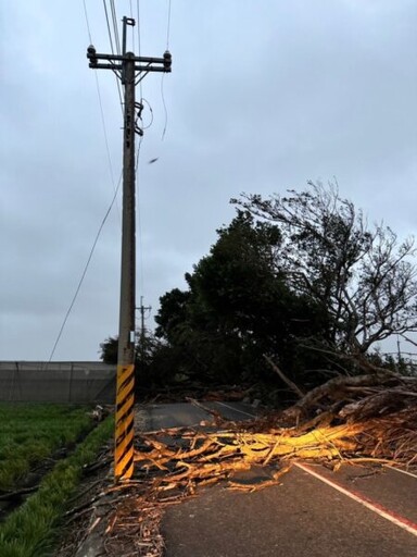
M89 67L112 70L125 88L123 138L123 212L121 309L118 323L115 480L129 480L134 473L134 403L135 403L135 290L136 290L136 218L135 218L135 135L143 135L138 125L143 106L135 101L135 86L149 72L170 72L172 57L136 57L126 52L127 26L135 20L123 17L122 54L99 54L90 45L87 49Z

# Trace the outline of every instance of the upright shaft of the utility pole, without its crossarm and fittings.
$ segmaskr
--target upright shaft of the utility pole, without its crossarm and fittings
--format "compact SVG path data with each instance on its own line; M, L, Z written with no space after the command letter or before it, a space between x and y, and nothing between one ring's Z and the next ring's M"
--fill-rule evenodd
M114 475L128 480L134 472L135 403L135 55L126 54L123 144L123 224L121 313L117 351L116 434Z

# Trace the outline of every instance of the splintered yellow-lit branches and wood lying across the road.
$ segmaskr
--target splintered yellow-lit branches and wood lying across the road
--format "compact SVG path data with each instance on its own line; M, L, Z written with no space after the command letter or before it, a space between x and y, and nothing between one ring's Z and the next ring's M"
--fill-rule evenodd
M253 466L273 467L271 480L279 481L277 472L294 459L361 457L412 466L417 463L416 403L415 377L337 377L283 412L245 422L244 430L219 423L215 416L222 431L177 428L143 434L137 438L136 467L153 478L154 493L175 488L189 494Z

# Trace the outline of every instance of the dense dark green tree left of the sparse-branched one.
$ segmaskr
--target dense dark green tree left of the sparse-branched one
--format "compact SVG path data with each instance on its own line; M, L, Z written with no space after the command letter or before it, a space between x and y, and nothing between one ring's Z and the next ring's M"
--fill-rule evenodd
M156 335L181 355L176 371L217 382L268 380L267 352L296 373L302 355L295 336L326 322L305 296L287 286L278 264L279 228L238 211L217 232L210 255L186 275L189 289L161 298Z

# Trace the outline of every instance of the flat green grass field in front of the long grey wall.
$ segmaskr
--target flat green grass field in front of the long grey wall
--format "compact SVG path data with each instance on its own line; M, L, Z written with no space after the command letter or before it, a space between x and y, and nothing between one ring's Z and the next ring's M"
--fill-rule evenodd
M0 490L12 490L37 462L94 425L86 407L36 404L0 404Z

